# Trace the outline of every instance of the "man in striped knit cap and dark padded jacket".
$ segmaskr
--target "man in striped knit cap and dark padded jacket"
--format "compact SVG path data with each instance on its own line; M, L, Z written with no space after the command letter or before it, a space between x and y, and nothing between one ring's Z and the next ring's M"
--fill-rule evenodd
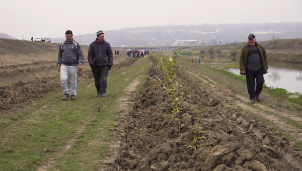
M88 62L95 79L97 97L106 97L107 77L113 65L113 53L110 44L105 41L102 30L97 32L96 40L89 46Z

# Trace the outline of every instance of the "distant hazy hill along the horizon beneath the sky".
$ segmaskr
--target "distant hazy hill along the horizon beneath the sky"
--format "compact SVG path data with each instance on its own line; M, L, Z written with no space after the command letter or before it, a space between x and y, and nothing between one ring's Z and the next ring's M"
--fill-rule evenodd
M105 40L111 46L164 46L173 45L176 40L198 40L197 45L215 45L219 42L246 42L249 34L255 34L257 41L302 38L302 23L260 23L219 25L169 25L155 27L127 28L105 32ZM90 45L96 33L75 35L80 44ZM51 42L62 42L65 38L51 38Z

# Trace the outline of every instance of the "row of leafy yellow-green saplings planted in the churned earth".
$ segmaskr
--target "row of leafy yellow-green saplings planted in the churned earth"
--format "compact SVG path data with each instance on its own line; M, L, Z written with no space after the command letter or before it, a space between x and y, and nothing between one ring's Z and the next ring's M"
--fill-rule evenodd
M172 113L172 120L175 121L175 123L178 126L179 129L179 136L181 135L181 129L184 128L184 124L182 121L184 118L182 118L183 114L183 108L182 108L182 100L184 99L184 92L181 92L179 90L179 82L176 75L176 64L177 61L175 58L177 57L177 51L174 52L173 55L169 57L162 57L159 54L153 54L155 56L156 61L153 62L156 75L151 77L148 76L149 79L152 79L156 86L160 87L163 91L166 92L167 97L169 99L169 107L171 107ZM159 75L164 74L164 80L160 79ZM202 108L199 111L199 120L196 123L197 127L196 130L194 130L194 143L184 143L183 145L186 146L186 149L192 149L194 152L198 152L198 148L204 144L200 143L200 139L203 139L201 134L204 133L204 130L201 130L202 125ZM214 154L213 148L211 149L211 153ZM201 158L202 156L200 156Z

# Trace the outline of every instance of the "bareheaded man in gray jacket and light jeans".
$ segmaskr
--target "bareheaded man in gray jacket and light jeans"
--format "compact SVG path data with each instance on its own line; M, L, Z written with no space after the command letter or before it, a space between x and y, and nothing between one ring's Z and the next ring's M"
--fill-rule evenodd
M59 58L57 61L60 80L64 92L63 100L69 98L67 85L68 76L70 78L71 100L77 100L77 74L82 70L84 64L84 55L78 42L72 39L72 32L67 30L66 40L59 45Z

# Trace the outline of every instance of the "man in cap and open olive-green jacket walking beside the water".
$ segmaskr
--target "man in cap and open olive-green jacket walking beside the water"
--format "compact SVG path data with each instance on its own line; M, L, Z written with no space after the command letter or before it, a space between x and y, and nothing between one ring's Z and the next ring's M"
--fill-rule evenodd
M256 37L250 34L249 42L246 44L240 53L239 66L240 73L246 75L247 87L250 95L250 103L261 101L260 93L262 91L264 77L267 73L268 62L264 47L256 42ZM256 80L256 91L255 91Z

